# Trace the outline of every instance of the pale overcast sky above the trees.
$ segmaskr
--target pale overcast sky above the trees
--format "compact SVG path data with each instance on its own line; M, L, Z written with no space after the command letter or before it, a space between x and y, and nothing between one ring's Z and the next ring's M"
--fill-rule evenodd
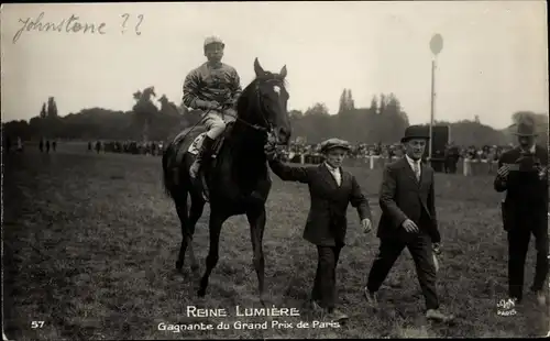
M74 14L105 23L103 34L32 30L13 42L42 12L43 24ZM546 2L529 0L2 4L2 122L37 116L51 96L59 116L127 111L148 86L179 105L185 76L205 62L205 37L218 35L243 88L255 57L267 70L286 65L289 110L323 102L336 113L349 88L360 108L393 92L411 124L426 123L429 42L439 33L435 119L479 116L502 129L515 111L548 113L546 19Z

